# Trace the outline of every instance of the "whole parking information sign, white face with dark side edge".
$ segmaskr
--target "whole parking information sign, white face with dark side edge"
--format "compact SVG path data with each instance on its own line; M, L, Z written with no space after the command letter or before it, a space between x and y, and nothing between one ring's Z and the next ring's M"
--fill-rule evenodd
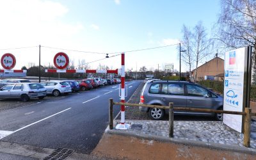
M224 111L244 111L250 105L252 47L225 52ZM223 123L243 132L242 115L223 115Z

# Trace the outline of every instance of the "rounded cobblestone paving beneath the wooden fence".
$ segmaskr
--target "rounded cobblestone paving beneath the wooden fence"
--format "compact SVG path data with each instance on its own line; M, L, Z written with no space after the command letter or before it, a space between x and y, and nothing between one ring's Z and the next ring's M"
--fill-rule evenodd
M124 132L134 134L148 134L153 136L168 137L168 121L129 120L127 124L142 125L142 129L128 129ZM256 122L252 122L256 126ZM207 143L220 143L243 147L243 136L224 125L223 122L212 121L174 121L173 138L191 141L204 141ZM251 137L251 148L256 148L256 138Z

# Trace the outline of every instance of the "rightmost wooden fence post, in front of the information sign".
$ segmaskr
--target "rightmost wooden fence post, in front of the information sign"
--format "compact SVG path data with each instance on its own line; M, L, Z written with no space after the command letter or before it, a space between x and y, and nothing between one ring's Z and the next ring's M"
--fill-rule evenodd
M245 118L244 118L244 146L250 147L250 134L251 134L251 108L245 108Z

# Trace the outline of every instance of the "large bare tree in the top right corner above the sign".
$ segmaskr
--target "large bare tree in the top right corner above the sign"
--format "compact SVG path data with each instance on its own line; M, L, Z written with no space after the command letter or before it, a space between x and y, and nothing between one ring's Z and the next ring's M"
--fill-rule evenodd
M256 81L256 1L221 0L217 26L216 39L220 40L226 51L252 45L253 79Z

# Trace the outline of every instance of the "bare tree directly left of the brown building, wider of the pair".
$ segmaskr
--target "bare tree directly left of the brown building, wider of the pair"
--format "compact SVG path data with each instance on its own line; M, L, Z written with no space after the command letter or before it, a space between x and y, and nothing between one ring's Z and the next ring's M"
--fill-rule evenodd
M202 25L202 22L198 22L195 28L193 29L193 56L195 56L195 81L196 81L196 72L198 68L198 63L200 63L204 58L209 54L209 49L211 47L211 40L207 38L207 33Z

